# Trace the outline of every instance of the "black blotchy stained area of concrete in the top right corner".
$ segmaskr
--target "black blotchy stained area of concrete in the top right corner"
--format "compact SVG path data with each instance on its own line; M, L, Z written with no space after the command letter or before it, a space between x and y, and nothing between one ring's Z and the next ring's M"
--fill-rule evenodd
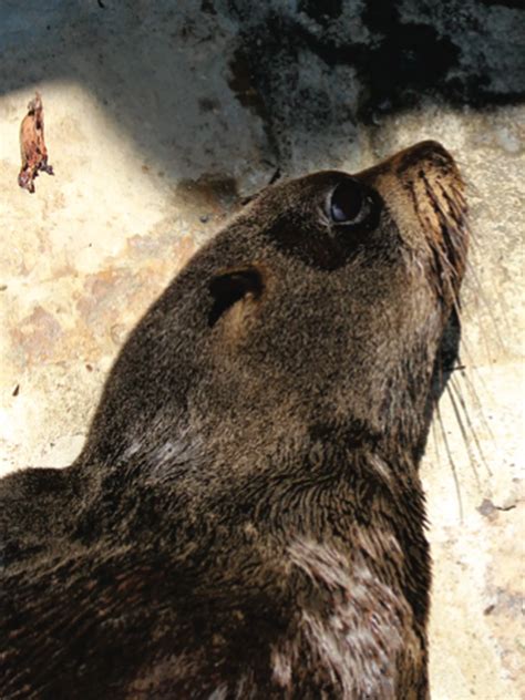
M294 10L271 0L226 2L241 28L230 86L265 115L281 162L292 133L315 137L329 128L333 136L343 123L373 124L424 96L474 109L522 101L523 3L444 4L301 0Z

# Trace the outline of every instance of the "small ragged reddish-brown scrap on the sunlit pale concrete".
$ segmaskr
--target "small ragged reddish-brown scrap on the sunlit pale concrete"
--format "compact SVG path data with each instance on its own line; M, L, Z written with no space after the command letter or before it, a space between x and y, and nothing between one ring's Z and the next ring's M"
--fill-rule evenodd
M48 164L48 148L44 141L43 105L39 93L28 104L28 114L20 126L20 154L22 167L18 184L31 194L34 192L34 178L39 172L54 175Z

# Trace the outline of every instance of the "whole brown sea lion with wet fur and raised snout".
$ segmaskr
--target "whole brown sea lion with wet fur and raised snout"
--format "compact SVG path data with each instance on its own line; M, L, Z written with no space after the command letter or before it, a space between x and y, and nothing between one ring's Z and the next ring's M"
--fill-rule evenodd
M0 482L2 698L429 697L418 474L467 249L423 142L276 183Z

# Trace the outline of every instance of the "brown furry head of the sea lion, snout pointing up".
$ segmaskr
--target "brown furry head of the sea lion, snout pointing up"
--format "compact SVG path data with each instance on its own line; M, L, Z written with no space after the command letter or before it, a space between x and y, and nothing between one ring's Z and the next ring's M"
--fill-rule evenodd
M206 454L207 470L255 473L332 430L416 457L465 212L431 141L356 175L267 187L132 332L80 461L140 454L166 475Z

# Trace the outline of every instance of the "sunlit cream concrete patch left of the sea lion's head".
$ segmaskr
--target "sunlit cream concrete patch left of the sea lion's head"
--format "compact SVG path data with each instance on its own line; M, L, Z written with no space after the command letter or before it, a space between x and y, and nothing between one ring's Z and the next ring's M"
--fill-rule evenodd
M55 175L29 195L17 185L18 141L35 90ZM181 194L152 172L82 85L38 83L0 109L3 469L69 463L127 331L224 205L213 187L196 184L195 203L191 185Z

